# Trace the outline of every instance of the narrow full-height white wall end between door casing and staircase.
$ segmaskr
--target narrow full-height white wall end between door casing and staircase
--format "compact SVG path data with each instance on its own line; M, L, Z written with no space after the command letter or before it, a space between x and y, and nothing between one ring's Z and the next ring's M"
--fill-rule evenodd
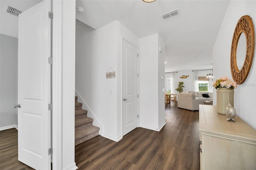
M76 1L62 1L62 169L75 169ZM54 107L54 106L53 106Z

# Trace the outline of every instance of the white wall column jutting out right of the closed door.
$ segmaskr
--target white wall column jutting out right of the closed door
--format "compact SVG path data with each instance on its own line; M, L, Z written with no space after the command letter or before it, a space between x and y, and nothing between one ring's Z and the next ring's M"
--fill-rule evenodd
M139 54L140 127L157 131L165 123L162 122L164 119L162 118L164 117L164 113L162 113L164 112L164 92L162 92L164 79L161 79L161 75L164 77L164 70L159 68L160 66L164 67L164 53L159 54L158 43L164 45L158 34L140 38ZM162 49L164 48L162 47ZM162 122L161 125L159 125L159 122Z

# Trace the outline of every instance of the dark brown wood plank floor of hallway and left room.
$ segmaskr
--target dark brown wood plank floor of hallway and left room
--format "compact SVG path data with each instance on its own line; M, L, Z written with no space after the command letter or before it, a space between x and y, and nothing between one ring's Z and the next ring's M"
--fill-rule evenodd
M166 125L156 132L136 128L119 142L96 136L75 147L79 170L200 169L198 111L166 106ZM0 131L0 170L30 170L18 161L16 129Z

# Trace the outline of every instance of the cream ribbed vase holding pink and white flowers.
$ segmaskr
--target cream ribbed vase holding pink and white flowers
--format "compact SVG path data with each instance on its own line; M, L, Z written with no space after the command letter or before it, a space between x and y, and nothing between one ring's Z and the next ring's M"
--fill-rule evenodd
M220 88L217 90L217 112L226 115L226 107L230 103L234 106L234 90L229 88Z

